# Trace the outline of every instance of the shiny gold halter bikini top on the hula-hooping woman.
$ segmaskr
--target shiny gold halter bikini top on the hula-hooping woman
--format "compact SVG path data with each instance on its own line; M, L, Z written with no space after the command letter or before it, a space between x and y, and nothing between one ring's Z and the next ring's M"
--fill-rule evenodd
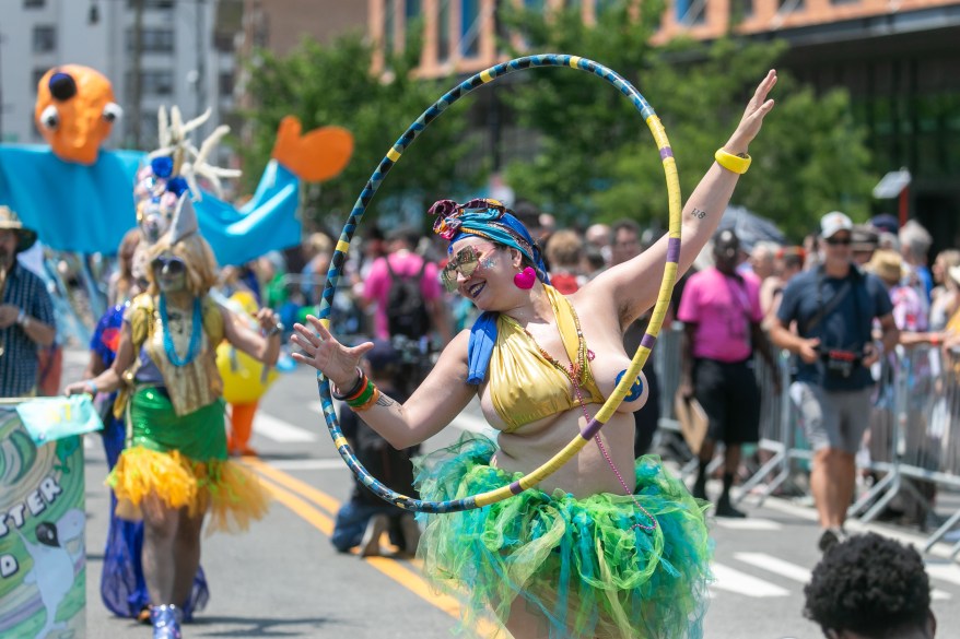
M585 404L601 404L605 398L594 380L590 363L583 346L578 355L577 320L573 306L552 286L545 286L560 336L570 362L584 362L579 376L579 392ZM548 415L577 407L579 400L570 378L543 354L534 339L513 318L501 315L496 320L496 346L490 357L490 397L493 409L506 424L504 433Z

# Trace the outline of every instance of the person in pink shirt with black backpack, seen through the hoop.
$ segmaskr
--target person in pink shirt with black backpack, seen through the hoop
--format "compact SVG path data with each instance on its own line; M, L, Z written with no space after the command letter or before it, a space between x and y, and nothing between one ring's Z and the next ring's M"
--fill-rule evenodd
M390 233L388 253L374 261L363 284L364 303L376 305L374 338L390 340L414 377L428 364L431 331L444 344L453 336L437 267L413 250L419 239L412 228Z

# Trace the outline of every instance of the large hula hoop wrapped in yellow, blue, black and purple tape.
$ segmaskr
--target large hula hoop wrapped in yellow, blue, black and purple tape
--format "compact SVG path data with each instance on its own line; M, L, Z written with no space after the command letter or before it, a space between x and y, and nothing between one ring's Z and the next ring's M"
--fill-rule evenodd
M400 135L399 140L387 151L386 156L381 161L376 170L374 170L373 175L367 180L366 186L363 191L361 191L360 197L356 199L356 202L353 204L353 210L350 212L350 216L347 218L347 223L343 226L343 232L340 234L340 239L337 241L337 248L333 252L333 256L330 261L330 269L327 271L327 282L324 287L324 296L320 301L320 308L318 312L319 320L324 323L326 328L330 327L330 311L332 308L333 301L333 293L337 288L337 281L340 277L340 273L342 272L343 264L347 261L347 251L350 249L350 240L353 238L353 234L356 230L358 225L360 224L361 218L363 217L364 212L366 212L366 208L370 204L371 200L373 200L374 194L383 182L384 178L389 173L390 168L393 168L394 164L396 164L403 151L407 150L413 140L417 139L423 130L440 117L444 110L447 109L453 103L458 100L460 97L467 95L475 88L493 82L496 78L502 75L506 75L508 73L513 73L514 71L520 71L523 69L536 68L536 67L570 67L572 69L578 69L581 71L587 71L606 80L614 87L617 87L620 93L625 95L633 103L633 106L640 111L643 116L644 121L649 128L651 133L653 134L654 141L657 144L657 149L659 150L660 158L664 164L664 173L667 180L667 196L668 196L668 206L669 206L669 230L668 230L668 244L667 244L667 261L664 267L664 279L660 283L660 291L657 296L656 306L654 306L654 312L651 318L649 326L647 327L646 334L643 336L643 340L640 343L640 346L636 348L636 353L633 355L631 359L630 366L627 369L627 372L623 375L620 383L617 384L617 388L613 389L612 394L607 399L600 410L597 412L596 416L590 419L589 423L583 428L583 430L574 437L574 439L567 443L553 459L546 462L539 469L535 470L528 475L520 477L518 481L513 482L508 485L502 486L494 490L489 490L487 493L481 493L479 495L472 495L469 497L465 497L463 499L454 499L449 501L423 501L421 499L413 499L406 495L401 495L391 490L383 483L381 483L376 477L371 475L366 469L356 459L356 455L351 450L350 446L347 443L347 439L343 437L343 434L340 431L340 424L337 419L337 413L333 409L333 401L330 397L330 382L324 377L323 374L317 372L317 389L320 395L320 403L323 405L324 418L327 423L327 428L330 430L330 436L333 439L333 443L337 447L340 457L343 458L343 461L347 462L347 465L350 466L350 470L356 475L356 477L365 484L374 494L376 494L382 499L394 504L395 506L402 508L405 510L412 510L418 512L456 512L461 510L470 510L472 508L481 508L483 506L488 506L490 504L495 504L496 501L502 501L508 497L514 495L518 495L524 490L531 488L537 485L546 477L550 476L557 470L566 463L571 458L573 458L577 452L579 452L587 442L596 435L600 428L606 424L613 413L617 411L617 407L623 401L623 398L630 392L630 387L633 383L633 380L636 379L637 375L640 375L643 365L646 363L647 357L649 356L651 350L657 340L657 334L660 331L660 327L664 323L664 318L667 313L667 307L670 303L670 294L674 291L674 283L677 279L677 270L678 262L680 259L680 181L677 176L677 164L674 159L674 152L670 149L669 141L667 140L667 133L664 130L663 125L660 123L659 118L654 113L654 109L647 104L646 99L640 94L633 85L630 84L627 80L621 78L614 71L604 67L598 62L594 62L593 60L588 60L586 58L581 58L577 56L566 56L566 55L541 55L541 56L527 56L524 58L516 58L511 60L510 62L503 62L501 64L496 64L491 67L476 75L465 80L450 91L448 91L443 97L433 103L417 120L410 125L407 131Z

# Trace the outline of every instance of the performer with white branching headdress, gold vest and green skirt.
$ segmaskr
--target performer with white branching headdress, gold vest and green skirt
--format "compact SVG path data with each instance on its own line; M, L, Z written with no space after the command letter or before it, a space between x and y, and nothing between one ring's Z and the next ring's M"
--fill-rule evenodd
M143 234L134 271L148 281L124 315L116 358L68 394L121 389L127 448L108 477L117 513L143 519L142 566L155 639L179 639L182 608L200 558L200 530L245 529L262 517L267 494L226 451L222 381L215 348L226 340L259 362L274 364L283 327L261 309L262 334L237 321L209 295L216 262L201 237L190 199L196 175L227 175L207 156L219 129L199 150L186 142L197 120L161 115L162 147L138 174L137 217Z

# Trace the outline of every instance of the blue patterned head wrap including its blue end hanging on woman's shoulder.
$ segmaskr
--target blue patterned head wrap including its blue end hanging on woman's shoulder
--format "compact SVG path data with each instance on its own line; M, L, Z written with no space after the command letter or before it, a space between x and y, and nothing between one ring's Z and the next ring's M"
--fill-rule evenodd
M449 240L448 252L452 252L454 242L469 235L483 237L520 251L536 269L537 277L543 284L550 284L540 247L530 237L527 227L500 201L481 198L458 204L453 200L441 200L430 208L429 213L436 215L433 232ZM496 312L485 311L470 328L467 383L476 386L487 377L490 356L496 344L497 316Z

